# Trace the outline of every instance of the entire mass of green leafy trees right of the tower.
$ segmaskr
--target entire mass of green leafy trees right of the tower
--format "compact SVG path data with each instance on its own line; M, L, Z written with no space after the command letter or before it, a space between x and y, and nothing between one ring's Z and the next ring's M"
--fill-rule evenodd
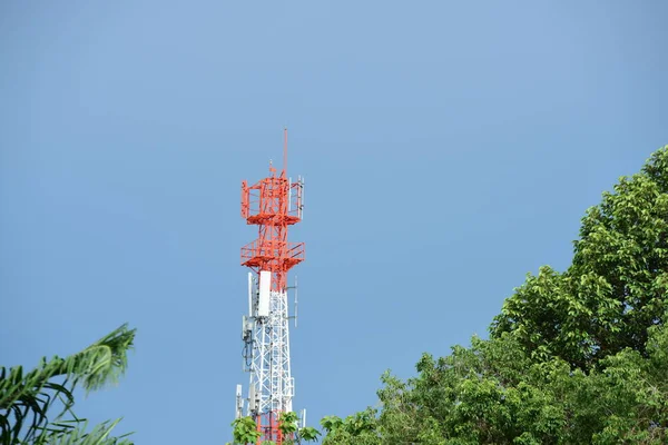
M323 418L323 444L666 444L667 319L668 146L587 211L572 265L529 275L490 339L384 374L380 412Z

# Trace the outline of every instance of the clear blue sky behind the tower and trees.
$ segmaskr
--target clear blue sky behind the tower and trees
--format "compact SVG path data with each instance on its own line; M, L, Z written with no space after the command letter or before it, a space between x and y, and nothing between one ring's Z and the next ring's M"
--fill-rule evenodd
M668 144L666 1L0 3L0 362L138 328L79 413L229 439L239 186L306 177L295 408L373 405ZM293 274L294 276L294 274Z

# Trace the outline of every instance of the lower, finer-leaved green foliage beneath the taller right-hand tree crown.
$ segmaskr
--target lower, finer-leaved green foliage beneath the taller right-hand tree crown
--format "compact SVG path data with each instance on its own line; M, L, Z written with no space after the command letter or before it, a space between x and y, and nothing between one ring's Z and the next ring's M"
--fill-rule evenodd
M323 444L665 444L668 329L648 344L648 358L625 349L586 374L531 359L508 334L473 338L450 356L424 355L407 382L384 375L371 434L328 417Z

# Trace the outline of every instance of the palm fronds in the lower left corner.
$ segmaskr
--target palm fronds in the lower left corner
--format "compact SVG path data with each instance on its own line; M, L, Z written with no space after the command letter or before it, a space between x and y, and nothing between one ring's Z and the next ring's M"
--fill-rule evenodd
M0 367L0 444L130 445L126 436L110 435L120 419L88 431L72 411L72 393L116 383L126 370L135 333L122 325L69 357L43 357L27 373L22 366Z

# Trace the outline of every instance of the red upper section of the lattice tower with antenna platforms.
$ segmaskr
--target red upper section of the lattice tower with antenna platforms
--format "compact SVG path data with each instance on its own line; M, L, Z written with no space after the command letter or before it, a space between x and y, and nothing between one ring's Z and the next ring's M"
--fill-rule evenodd
M287 177L287 129L284 130L283 170L269 162L269 176L253 186L242 182L242 217L258 226L257 239L242 247L242 266L272 273L272 290L284 291L287 271L304 260L304 243L289 243L287 228L302 220L304 182Z

